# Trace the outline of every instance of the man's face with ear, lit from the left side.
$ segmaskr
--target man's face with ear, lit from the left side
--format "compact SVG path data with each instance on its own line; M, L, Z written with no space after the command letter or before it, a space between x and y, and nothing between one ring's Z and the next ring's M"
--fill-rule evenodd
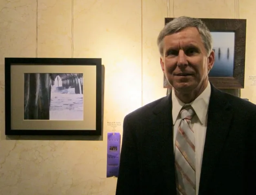
M176 91L191 93L208 80L214 52L207 56L203 41L195 27L188 27L163 39L162 70Z

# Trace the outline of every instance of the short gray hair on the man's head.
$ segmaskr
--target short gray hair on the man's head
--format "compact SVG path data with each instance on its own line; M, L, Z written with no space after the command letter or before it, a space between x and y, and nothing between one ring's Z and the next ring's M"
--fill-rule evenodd
M187 27L196 27L198 29L203 44L205 45L207 56L209 56L212 50L212 37L209 29L202 20L187 16L174 18L174 20L167 23L159 33L157 45L161 56L163 56L163 39L165 36L179 32Z

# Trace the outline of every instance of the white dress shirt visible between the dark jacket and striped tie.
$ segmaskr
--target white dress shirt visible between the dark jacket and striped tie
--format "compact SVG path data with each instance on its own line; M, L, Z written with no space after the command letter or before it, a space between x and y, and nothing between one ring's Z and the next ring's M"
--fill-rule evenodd
M180 124L179 112L183 105L177 96L174 93L174 90L171 90L171 99L172 99L172 120L173 120L173 133L174 133L174 152L175 152L175 140ZM194 130L195 142L196 142L196 195L198 195L201 165L203 158L203 149L205 145L205 134L207 127L207 116L208 116L208 105L209 98L211 95L211 86L208 81L206 89L201 93L190 105L194 108L195 116L191 120L191 125Z

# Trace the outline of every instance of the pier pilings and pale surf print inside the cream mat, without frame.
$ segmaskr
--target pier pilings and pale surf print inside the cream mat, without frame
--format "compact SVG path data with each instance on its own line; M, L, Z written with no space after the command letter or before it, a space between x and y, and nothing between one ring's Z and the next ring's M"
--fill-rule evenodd
M83 99L83 74L24 74L24 120L83 120Z

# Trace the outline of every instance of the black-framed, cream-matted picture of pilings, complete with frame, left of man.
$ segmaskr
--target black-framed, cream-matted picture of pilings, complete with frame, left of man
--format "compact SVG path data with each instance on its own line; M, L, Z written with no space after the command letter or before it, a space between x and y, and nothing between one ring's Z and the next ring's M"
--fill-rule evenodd
M101 58L5 58L6 135L101 135Z

